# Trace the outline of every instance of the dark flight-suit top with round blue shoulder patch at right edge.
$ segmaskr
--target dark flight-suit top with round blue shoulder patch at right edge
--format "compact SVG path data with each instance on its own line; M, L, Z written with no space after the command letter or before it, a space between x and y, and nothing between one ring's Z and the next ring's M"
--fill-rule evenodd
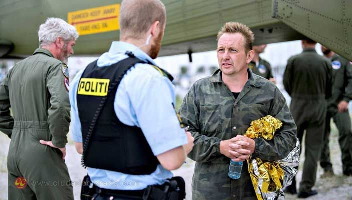
M352 64L335 54L331 58L333 68L332 95L328 99L329 112L337 113L337 105L342 100L352 100Z

